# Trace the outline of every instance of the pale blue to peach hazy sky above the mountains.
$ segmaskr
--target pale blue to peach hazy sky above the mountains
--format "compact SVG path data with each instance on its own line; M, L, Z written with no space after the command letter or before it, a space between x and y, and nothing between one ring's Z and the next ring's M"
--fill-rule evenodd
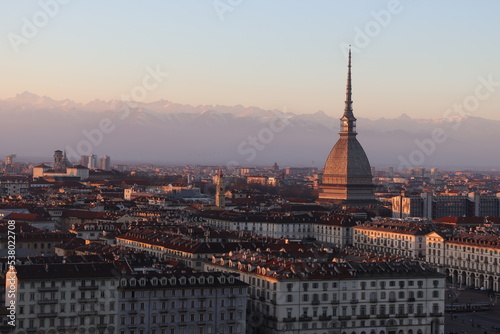
M149 67L169 75L147 101L339 115L352 44L356 116L469 103L500 119L500 86L478 79L500 82L499 13L497 0L3 0L0 99L120 98Z

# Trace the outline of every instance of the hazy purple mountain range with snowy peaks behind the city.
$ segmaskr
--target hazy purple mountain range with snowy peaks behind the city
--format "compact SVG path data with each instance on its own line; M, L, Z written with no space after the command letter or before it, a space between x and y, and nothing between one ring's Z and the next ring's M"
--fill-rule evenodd
M114 162L322 167L341 115L166 100L81 104L24 92L0 100L0 154L50 161L54 150L66 149L73 162L95 153ZM499 129L500 121L472 116L357 121L358 139L377 167L498 168Z

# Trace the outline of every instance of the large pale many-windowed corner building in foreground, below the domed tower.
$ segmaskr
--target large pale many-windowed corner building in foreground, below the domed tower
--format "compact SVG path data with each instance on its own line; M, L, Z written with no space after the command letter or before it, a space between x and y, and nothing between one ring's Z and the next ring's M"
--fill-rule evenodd
M377 266L338 264L335 270L350 271L349 278L300 279L272 277L271 267L222 258L206 264L207 270L239 272L250 285L248 325L260 333L442 334L444 276L430 268L423 274L416 263L385 273Z

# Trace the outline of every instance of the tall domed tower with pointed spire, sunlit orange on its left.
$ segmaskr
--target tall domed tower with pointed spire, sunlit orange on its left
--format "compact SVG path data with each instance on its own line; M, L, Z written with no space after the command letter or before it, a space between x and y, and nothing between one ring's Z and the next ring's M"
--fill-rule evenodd
M356 117L352 112L351 50L347 70L344 115L340 119L340 138L330 151L323 171L319 201L347 206L375 203L370 162L356 138Z

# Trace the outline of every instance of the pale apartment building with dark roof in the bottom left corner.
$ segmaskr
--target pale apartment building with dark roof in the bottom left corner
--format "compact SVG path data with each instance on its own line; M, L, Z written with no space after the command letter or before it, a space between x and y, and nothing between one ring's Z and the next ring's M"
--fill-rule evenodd
M116 334L118 277L106 269L109 266L112 265L17 266L16 334L73 333L75 330ZM74 268L78 275L64 274ZM95 277L91 277L94 274Z

